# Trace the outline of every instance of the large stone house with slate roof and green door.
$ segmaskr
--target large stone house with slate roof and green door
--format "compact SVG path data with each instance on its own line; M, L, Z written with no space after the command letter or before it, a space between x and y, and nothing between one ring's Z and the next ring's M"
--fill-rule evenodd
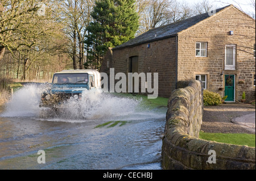
M255 19L233 5L151 29L109 51L101 72L158 73L158 95L198 79L226 102L255 100Z

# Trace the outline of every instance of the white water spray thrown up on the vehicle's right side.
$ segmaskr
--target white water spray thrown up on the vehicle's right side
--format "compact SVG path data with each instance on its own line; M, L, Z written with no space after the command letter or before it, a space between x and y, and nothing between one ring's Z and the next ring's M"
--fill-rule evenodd
M141 101L131 98L120 98L97 91L84 91L81 100L68 100L66 107L60 110L62 117L68 119L113 119L135 113Z

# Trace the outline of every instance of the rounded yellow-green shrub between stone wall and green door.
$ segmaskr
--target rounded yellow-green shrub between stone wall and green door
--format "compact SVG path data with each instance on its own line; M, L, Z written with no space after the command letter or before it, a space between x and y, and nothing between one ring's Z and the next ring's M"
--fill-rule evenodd
M217 106L218 104L221 104L220 94L204 90L204 106Z

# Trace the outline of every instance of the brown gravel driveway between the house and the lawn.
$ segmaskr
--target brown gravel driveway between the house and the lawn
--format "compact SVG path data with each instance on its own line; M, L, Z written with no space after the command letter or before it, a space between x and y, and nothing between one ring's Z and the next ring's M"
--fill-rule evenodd
M236 123L232 123L231 120L235 117L248 115L254 112L255 106L246 104L205 106L201 131L208 133L253 133Z

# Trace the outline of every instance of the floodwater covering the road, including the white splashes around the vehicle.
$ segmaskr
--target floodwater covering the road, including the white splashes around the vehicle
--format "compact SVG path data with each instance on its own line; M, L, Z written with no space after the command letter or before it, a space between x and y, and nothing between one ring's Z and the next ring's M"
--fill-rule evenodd
M39 108L42 91L25 86L0 110L0 169L162 169L167 108L86 92L89 103L52 112ZM39 150L46 163L38 163Z

